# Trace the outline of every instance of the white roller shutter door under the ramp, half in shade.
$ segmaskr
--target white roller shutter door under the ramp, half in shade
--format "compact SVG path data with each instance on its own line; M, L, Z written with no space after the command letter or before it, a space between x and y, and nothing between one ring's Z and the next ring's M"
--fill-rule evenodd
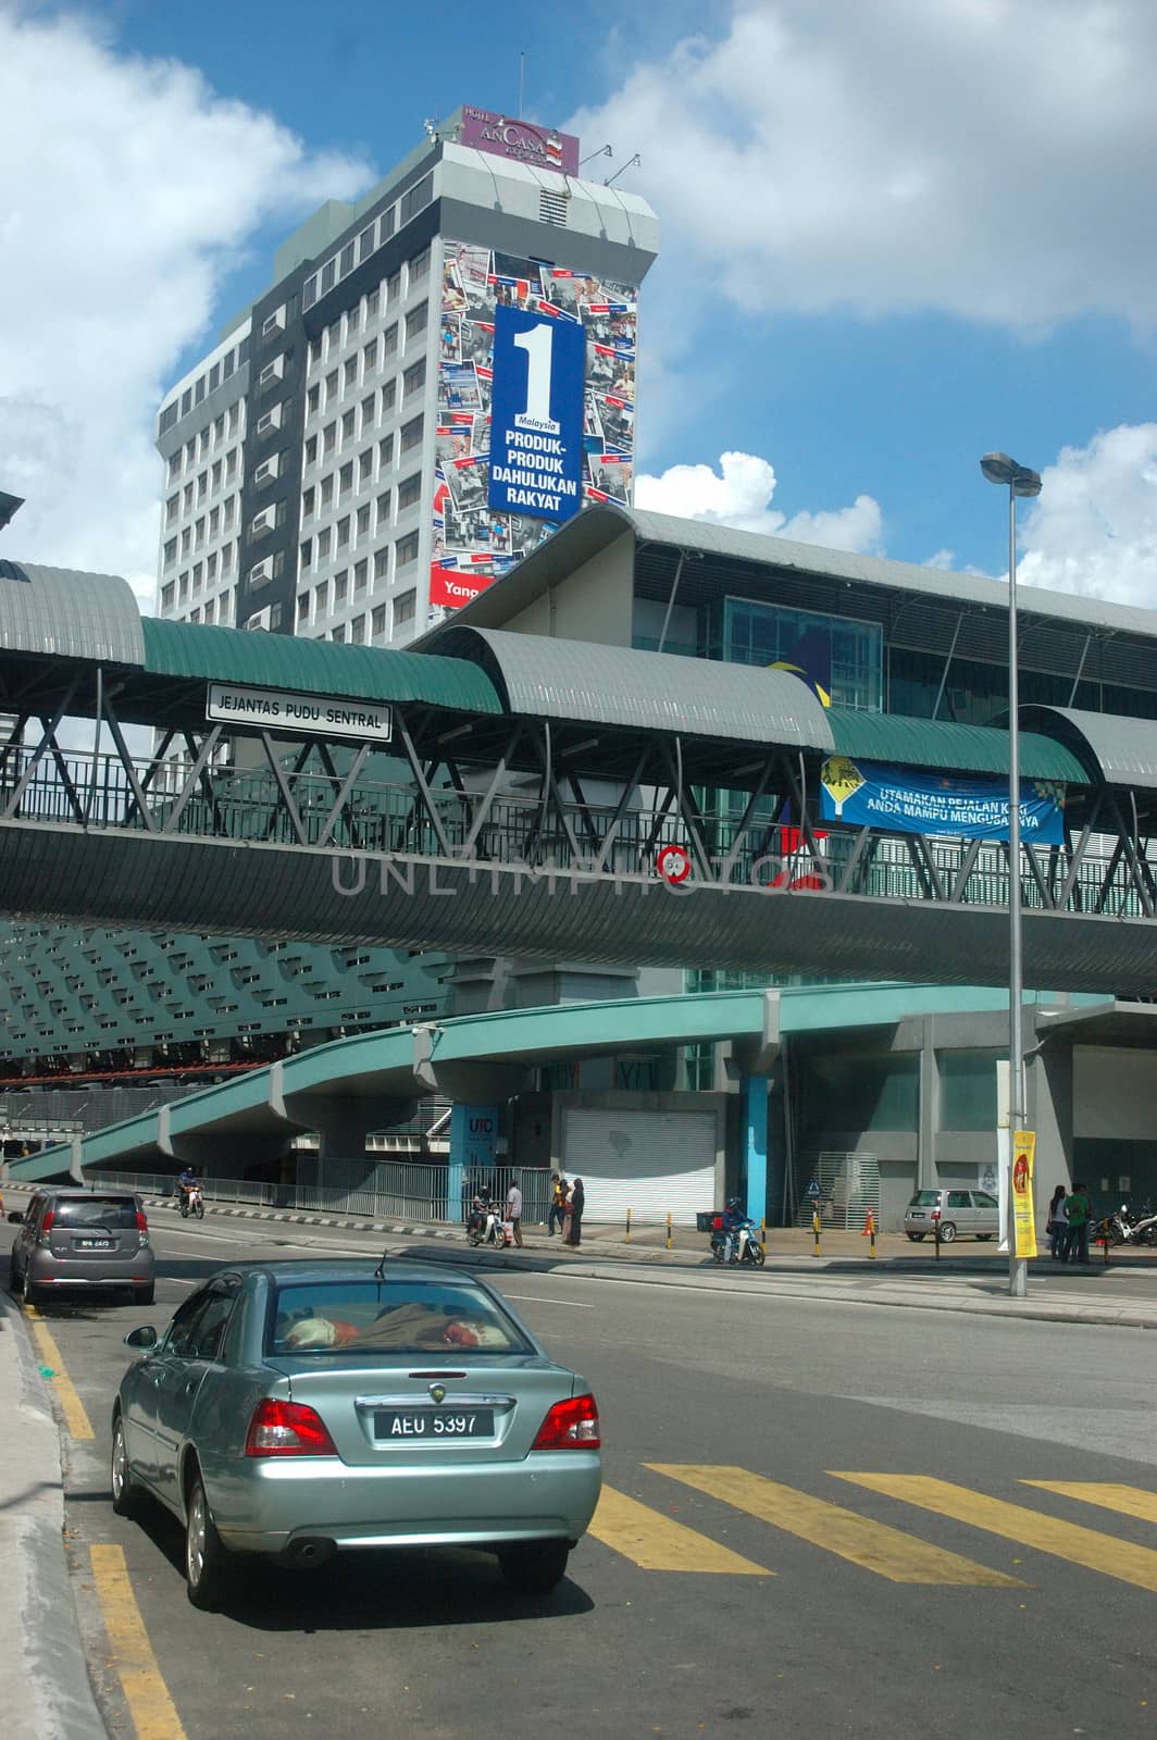
M694 1227L715 1206L713 1112L562 1112L562 1164L581 1178L590 1220Z

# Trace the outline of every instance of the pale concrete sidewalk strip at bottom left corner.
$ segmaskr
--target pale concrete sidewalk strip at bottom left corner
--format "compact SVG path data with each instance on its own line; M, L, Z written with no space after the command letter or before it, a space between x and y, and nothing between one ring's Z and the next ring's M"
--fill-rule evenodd
M21 1314L0 1293L0 1684L12 1740L106 1740L64 1563L61 1441Z

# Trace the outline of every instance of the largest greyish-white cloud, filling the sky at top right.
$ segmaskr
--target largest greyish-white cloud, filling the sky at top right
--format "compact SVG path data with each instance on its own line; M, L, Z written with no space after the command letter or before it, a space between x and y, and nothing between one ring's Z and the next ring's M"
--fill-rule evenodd
M572 122L642 153L672 324L720 298L1152 324L1152 0L741 0L722 31Z

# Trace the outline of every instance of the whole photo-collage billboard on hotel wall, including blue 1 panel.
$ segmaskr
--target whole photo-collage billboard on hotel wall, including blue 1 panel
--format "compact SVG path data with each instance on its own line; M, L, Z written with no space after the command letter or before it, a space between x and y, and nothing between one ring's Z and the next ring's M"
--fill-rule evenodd
M630 506L637 327L637 285L444 242L431 607L468 604L579 508Z

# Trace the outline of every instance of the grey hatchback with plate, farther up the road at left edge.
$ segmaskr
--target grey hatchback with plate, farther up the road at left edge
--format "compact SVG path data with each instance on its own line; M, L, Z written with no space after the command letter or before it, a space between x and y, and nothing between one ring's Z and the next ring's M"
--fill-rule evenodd
M137 1305L153 1303L157 1260L141 1199L130 1190L37 1190L12 1244L10 1286L26 1305L40 1305L68 1288L130 1291Z

